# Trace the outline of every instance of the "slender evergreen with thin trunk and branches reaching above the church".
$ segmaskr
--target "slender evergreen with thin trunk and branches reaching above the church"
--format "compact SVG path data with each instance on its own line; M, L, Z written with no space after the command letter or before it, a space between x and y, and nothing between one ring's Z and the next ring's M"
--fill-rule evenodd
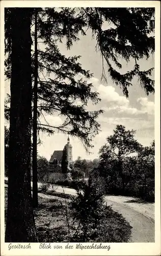
M35 9L36 15L38 10ZM41 14L40 12L39 14ZM77 62L79 56L66 58L61 54L57 46L59 36L53 31L54 38L47 41L45 35L46 49L38 48L37 37L41 40L41 18L35 19L34 37L34 115L33 115L33 203L38 204L37 188L37 113L38 131L45 131L52 134L55 130L60 130L78 137L82 140L86 149L91 146L92 138L98 133L99 124L96 118L102 111L89 112L86 110L88 100L94 104L99 101L97 93L91 92L92 84L88 84L83 78L90 78L89 71L82 69ZM42 17L42 14L41 14ZM48 27L50 24L46 24ZM37 73L36 73L37 71ZM76 76L82 79L76 80ZM53 79L54 76L54 79ZM77 101L81 101L81 106ZM38 103L38 109L37 109ZM36 113L37 112L37 113ZM39 122L40 116L45 114L59 114L64 122L60 126L50 125L48 122ZM45 117L44 117L45 119ZM46 119L45 119L46 121ZM92 131L92 133L91 133Z

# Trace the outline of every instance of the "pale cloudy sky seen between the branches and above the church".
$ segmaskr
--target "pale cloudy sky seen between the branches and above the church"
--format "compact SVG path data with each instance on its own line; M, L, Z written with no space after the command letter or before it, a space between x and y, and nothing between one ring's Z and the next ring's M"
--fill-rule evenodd
M117 124L125 125L126 129L136 130L136 139L143 145L149 145L154 139L154 95L146 96L145 92L140 88L137 78L133 79L132 87L129 88L128 99L123 95L122 90L117 87L108 74L108 68L105 66L108 84L101 82L102 59L99 52L95 51L96 41L92 39L91 31L87 32L87 36L80 36L80 40L75 42L70 51L66 50L65 45L60 45L61 53L66 56L81 55L79 62L86 70L93 73L93 78L89 82L93 83L93 90L99 93L101 102L95 106L95 110L103 109L104 113L98 118L101 124L101 132L93 140L94 147L88 155L82 143L75 138L70 137L73 146L73 160L78 156L83 159L94 159L98 157L99 148L105 143L107 136L113 134ZM135 63L121 61L123 65L122 72L133 69ZM143 70L154 67L154 56L150 56L148 60L142 60L140 66ZM9 93L9 82L5 84L6 93ZM88 108L94 110L89 103ZM60 116L46 116L46 120L50 125L60 124L62 122ZM45 134L40 135L42 144L38 147L38 154L49 160L50 155L55 150L63 150L67 143L67 135L55 133L50 137Z

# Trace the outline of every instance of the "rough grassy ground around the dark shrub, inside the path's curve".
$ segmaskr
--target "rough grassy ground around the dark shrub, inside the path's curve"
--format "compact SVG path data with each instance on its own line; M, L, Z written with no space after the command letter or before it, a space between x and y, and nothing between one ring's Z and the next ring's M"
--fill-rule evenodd
M110 206L104 211L98 229L92 224L90 228L80 224L73 218L72 209L67 208L66 215L66 203L69 205L70 200L39 194L39 206L35 209L39 242L130 242L131 226Z

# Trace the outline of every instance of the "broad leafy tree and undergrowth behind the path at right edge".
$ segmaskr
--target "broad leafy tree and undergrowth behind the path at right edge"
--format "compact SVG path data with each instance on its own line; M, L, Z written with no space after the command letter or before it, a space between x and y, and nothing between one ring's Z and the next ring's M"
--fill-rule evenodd
M92 175L105 179L106 192L154 201L155 142L144 147L134 134L117 125L114 135L101 147L99 164Z

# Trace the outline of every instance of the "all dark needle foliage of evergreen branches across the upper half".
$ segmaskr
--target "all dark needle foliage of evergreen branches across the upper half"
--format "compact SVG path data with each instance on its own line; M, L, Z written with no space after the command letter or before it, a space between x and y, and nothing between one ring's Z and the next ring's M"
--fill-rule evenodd
M34 10L31 8L33 15ZM87 111L87 104L90 100L97 104L100 99L92 91L92 84L88 83L92 74L78 62L80 56L67 58L61 54L58 43L63 43L65 39L66 47L70 50L73 42L79 40L80 33L85 36L87 29L91 29L97 41L96 50L102 55L102 79L108 82L108 72L128 97L128 88L136 76L147 95L154 93L154 81L151 79L153 68L141 70L139 65L139 60L148 59L154 52L154 8L63 7L38 8L37 11L38 40L44 46L38 50L38 130L48 134L59 130L76 136L87 149L99 132L96 119L102 113L102 110ZM5 74L10 78L10 8L5 9L5 19ZM107 24L105 30L104 23ZM34 70L34 52L32 56ZM123 73L121 59L127 63L135 60L133 69ZM104 60L108 65L107 72ZM78 105L78 101L81 104ZM52 126L46 121L43 124L39 117L44 116L45 119L45 114L61 115L64 121L60 126Z

